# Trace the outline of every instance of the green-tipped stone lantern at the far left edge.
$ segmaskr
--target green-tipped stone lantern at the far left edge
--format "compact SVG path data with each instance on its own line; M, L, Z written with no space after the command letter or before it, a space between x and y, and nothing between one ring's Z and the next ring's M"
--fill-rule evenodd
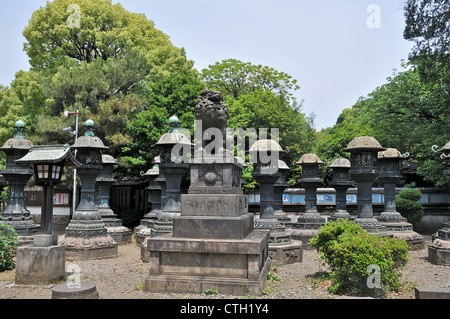
M0 173L9 186L8 203L0 214L0 221L14 227L21 245L29 245L33 241L32 236L39 234L41 229L40 225L33 222L25 206L25 185L33 176L33 168L30 164L19 164L15 160L27 154L32 143L23 134L25 124L22 121L17 121L14 129L14 137L0 148L6 154L6 167Z

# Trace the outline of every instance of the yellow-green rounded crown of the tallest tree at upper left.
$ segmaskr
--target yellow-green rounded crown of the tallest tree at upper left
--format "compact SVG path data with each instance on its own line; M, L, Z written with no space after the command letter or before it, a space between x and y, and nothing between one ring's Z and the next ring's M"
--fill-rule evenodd
M111 0L77 0L79 10L73 4L55 0L33 13L23 32L33 68L52 72L55 66L72 66L74 61L124 58L130 48L146 51L152 76L185 63L180 50L144 14L131 13ZM79 24L71 23L73 19Z

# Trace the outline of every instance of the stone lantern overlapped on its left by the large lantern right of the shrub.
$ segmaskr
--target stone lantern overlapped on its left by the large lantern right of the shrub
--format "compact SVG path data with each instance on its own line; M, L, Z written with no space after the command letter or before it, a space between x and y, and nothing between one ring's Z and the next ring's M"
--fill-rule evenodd
M394 238L406 240L410 249L423 249L424 238L413 231L412 224L396 210L395 184L402 179L403 155L395 148L378 152L378 180L384 187L384 211L378 217Z

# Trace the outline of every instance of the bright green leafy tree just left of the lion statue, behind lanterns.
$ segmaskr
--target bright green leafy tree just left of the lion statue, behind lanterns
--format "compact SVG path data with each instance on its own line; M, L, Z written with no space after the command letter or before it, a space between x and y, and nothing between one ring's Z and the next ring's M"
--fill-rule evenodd
M204 88L198 72L191 65L157 82L141 83L137 91L143 96L145 107L128 122L127 132L132 140L122 149L126 174L139 176L139 172L152 166L160 151L152 145L167 133L171 116L177 116L181 127L189 130L193 138L194 109Z

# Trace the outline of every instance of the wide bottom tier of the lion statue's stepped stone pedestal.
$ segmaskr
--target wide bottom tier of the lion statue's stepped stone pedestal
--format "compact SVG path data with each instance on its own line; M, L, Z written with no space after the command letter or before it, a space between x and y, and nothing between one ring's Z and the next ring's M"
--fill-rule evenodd
M270 267L269 231L254 230L244 239L173 237L147 240L148 292L261 295Z

